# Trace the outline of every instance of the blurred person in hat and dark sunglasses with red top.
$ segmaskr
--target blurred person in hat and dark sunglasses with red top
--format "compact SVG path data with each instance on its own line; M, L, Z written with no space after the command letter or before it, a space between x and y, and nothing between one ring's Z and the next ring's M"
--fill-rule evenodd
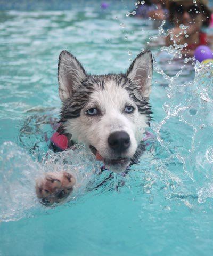
M208 27L211 10L207 0L171 0L169 5L170 21L175 26L169 30L166 45L184 45L184 57L193 57L199 45L209 45L210 40L201 29ZM180 26L181 25L181 26ZM184 26L183 26L184 25Z

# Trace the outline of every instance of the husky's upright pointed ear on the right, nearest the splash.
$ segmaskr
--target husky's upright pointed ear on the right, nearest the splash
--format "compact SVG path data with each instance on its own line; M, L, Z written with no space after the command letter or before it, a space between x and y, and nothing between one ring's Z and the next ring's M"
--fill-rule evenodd
M137 55L127 70L126 76L137 86L143 98L149 98L153 76L153 60L149 50Z

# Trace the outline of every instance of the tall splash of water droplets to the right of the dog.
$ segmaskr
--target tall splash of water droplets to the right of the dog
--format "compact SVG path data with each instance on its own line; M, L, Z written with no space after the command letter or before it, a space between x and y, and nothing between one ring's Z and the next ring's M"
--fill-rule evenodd
M169 77L159 67L155 69L170 83L168 101L163 106L166 116L160 123L153 124L153 129L170 157L176 157L181 163L181 169L198 194L198 201L204 202L207 197L213 197L212 183L209 183L213 178L213 66L197 63L194 81L181 85L178 77L183 67L174 77ZM176 125L178 129L174 128ZM169 135L167 129L170 129Z

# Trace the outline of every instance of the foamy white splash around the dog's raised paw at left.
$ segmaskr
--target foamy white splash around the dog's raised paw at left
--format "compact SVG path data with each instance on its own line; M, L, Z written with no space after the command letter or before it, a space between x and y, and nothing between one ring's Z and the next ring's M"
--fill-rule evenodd
M75 175L75 192L69 198L73 201L84 193L93 174L100 170L83 146L62 153L47 151L38 163L13 142L4 142L0 146L0 166L0 221L15 221L44 213L36 197L35 182L45 173L67 171Z

